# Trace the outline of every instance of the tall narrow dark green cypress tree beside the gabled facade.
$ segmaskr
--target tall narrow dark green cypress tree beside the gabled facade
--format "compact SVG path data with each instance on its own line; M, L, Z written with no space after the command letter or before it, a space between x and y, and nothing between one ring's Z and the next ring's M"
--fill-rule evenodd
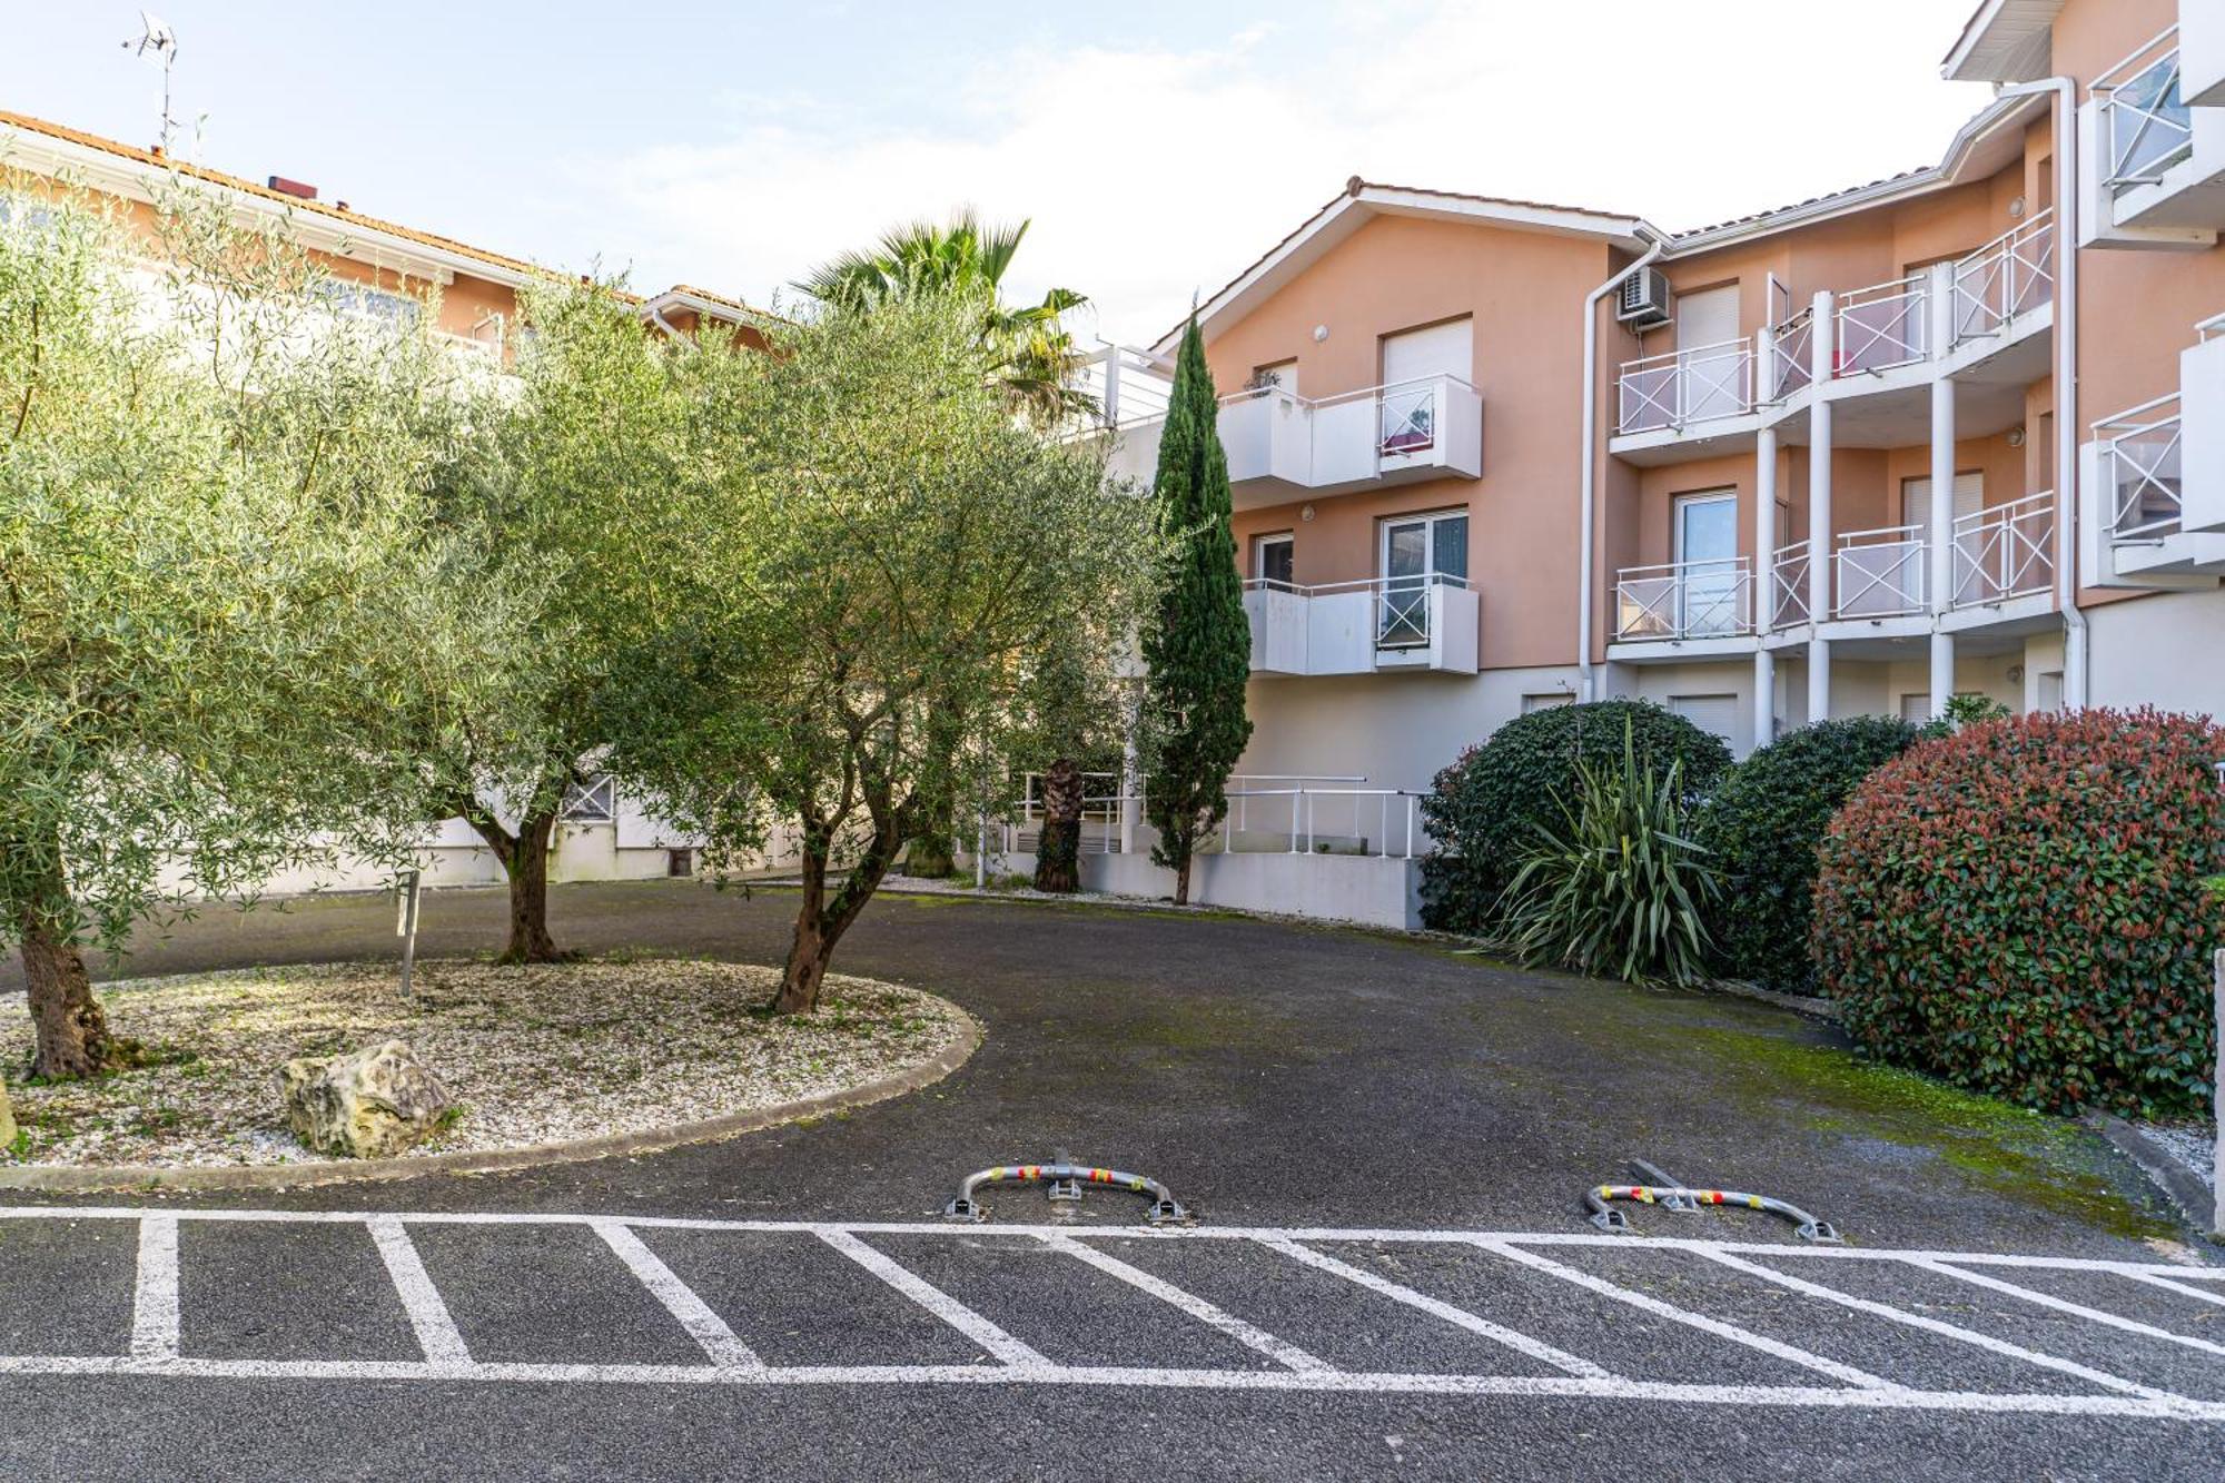
M1159 831L1150 857L1175 871L1177 904L1190 900L1190 855L1228 813L1228 773L1250 742L1244 715L1250 621L1228 528L1228 454L1217 419L1206 341L1193 312L1175 359L1153 483L1166 570L1159 621L1144 635L1150 675L1139 717L1144 813Z

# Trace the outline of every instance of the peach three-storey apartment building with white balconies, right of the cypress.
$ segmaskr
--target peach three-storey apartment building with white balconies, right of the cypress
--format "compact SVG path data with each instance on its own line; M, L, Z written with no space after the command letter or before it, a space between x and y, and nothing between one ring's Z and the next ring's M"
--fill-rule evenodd
M1671 234L1355 178L1199 305L1246 775L1426 788L1609 695L1736 753L2225 715L2225 4L1987 0L1942 71L1996 96L1889 180ZM1175 338L1097 372L1121 472Z

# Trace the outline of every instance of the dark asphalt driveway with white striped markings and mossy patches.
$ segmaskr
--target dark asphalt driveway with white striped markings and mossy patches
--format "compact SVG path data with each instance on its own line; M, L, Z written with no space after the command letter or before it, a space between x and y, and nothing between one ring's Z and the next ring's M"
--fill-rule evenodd
M556 931L777 960L790 904L570 886ZM423 951L498 926L443 893ZM378 902L205 917L131 971L387 933ZM948 897L877 902L837 966L988 1042L921 1096L641 1160L0 1214L0 1474L2225 1472L2225 1283L2149 1245L2138 1176L1778 1011ZM1197 1234L1133 1236L1110 1194L932 1222L959 1173L1059 1149L1164 1178ZM1580 1194L1629 1156L1862 1256L1751 1214L1598 1238Z

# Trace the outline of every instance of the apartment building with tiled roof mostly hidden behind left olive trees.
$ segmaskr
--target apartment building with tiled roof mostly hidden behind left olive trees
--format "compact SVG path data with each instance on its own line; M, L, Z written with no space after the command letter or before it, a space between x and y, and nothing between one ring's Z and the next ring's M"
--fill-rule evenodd
M122 203L127 223L154 229L154 203L169 176L216 194L245 218L283 216L296 240L332 274L334 303L354 314L414 321L434 305L432 332L456 354L501 367L512 354L510 327L518 298L550 269L454 238L403 227L320 200L300 180L269 176L263 185L200 165L136 149L22 114L0 111L0 178L56 180ZM763 345L765 316L745 303L674 285L639 296L650 332L692 336L705 323L730 325L745 345ZM636 806L610 777L590 777L565 799L550 873L554 880L634 880L694 873L696 839ZM425 884L494 884L501 862L463 819L443 819L421 855ZM385 884L383 873L338 866L271 880L271 891Z

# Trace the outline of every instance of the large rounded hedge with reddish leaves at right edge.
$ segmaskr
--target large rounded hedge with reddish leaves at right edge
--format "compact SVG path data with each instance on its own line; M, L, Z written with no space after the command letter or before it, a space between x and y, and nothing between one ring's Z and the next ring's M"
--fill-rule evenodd
M1969 726L1824 833L1813 949L1871 1053L2029 1107L2209 1096L2225 728L2160 710Z

